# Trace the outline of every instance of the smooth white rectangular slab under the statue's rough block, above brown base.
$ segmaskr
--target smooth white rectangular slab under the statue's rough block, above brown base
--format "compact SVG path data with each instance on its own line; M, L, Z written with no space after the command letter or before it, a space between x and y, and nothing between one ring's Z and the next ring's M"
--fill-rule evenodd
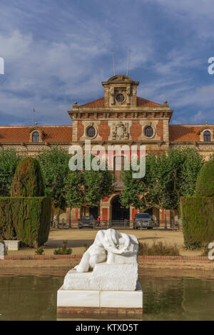
M139 283L136 291L73 290L62 286L57 292L57 306L143 309L143 291Z

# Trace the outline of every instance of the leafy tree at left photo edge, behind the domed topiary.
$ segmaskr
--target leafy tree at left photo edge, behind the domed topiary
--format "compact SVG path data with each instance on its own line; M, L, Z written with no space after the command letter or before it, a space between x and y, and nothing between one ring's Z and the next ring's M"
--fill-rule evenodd
M0 150L0 196L9 197L11 195L11 185L21 156L16 154L14 149Z

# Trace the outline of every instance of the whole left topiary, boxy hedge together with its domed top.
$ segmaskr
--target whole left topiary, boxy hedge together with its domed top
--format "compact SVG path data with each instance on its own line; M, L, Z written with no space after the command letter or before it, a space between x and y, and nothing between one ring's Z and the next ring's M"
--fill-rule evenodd
M51 199L44 197L39 162L26 157L17 165L11 197L0 198L0 234L36 247L49 237L50 217Z

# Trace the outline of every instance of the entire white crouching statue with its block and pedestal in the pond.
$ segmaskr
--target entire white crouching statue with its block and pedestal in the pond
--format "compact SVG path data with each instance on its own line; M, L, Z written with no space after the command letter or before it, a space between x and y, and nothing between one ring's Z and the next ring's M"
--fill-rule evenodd
M105 250L106 262L95 262ZM87 272L90 262L93 271ZM66 274L57 292L58 318L86 319L86 314L96 319L142 319L143 292L138 282L138 240L134 235L112 229L99 231L78 267Z

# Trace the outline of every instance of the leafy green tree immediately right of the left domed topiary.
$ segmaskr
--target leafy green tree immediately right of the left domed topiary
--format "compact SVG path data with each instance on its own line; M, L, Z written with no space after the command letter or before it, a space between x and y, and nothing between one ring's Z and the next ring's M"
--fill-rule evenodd
M43 150L37 156L44 178L45 195L51 197L52 207L59 220L61 210L65 210L65 185L68 172L68 162L71 155L66 150L55 146Z

